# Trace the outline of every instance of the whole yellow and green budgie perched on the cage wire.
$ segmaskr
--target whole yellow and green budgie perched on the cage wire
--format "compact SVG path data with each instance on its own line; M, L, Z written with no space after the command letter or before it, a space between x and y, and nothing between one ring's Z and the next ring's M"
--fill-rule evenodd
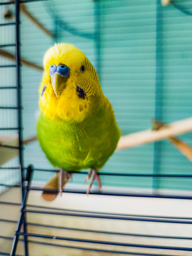
M74 45L57 43L43 59L36 130L47 159L60 170L59 190L71 173L90 169L87 194L99 170L114 153L121 131L99 77L86 55Z

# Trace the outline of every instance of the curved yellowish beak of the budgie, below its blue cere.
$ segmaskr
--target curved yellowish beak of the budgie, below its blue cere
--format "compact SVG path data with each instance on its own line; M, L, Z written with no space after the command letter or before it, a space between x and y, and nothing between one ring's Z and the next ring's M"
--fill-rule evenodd
M51 84L53 87L53 91L57 98L59 98L59 95L63 89L66 87L66 82L67 82L68 77L61 76L58 73L54 73L51 76Z

